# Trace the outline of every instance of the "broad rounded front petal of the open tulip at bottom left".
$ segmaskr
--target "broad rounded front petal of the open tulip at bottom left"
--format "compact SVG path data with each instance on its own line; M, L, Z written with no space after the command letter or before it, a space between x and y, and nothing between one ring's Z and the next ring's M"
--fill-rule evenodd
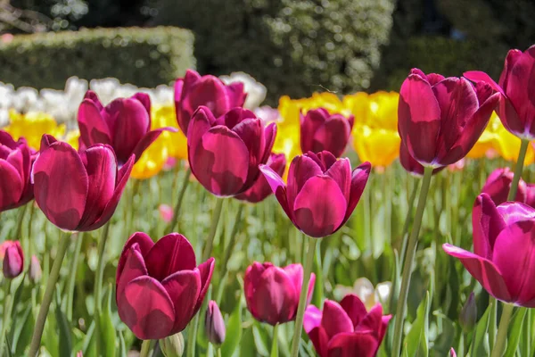
M158 280L144 276L130 281L117 306L120 320L137 338L155 340L171 335L175 308Z

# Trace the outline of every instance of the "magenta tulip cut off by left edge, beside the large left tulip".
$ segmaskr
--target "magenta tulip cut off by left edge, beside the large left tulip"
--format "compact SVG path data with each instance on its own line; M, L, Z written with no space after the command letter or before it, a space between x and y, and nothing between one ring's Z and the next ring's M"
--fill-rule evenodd
M20 207L33 199L30 180L34 155L24 138L15 142L0 130L0 212Z

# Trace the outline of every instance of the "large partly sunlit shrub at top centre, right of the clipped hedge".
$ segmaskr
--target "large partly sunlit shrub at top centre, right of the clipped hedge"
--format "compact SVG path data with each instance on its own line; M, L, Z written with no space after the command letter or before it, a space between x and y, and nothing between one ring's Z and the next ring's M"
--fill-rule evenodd
M204 73L250 73L270 102L369 87L393 0L161 0L157 24L192 29Z

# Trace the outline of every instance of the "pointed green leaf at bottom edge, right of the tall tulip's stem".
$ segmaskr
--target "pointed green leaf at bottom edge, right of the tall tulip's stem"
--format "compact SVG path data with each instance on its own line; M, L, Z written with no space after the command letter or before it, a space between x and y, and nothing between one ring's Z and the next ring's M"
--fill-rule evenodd
M420 303L416 311L416 320L410 327L410 331L405 337L404 353L407 356L423 356L429 354L429 292L425 294L425 300Z

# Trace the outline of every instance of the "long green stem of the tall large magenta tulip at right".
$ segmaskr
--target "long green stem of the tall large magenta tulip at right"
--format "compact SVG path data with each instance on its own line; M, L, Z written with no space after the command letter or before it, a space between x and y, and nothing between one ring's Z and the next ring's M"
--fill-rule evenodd
M394 342L392 345L392 357L399 356L399 349L401 348L401 338L403 335L403 320L405 318L405 310L407 308L408 286L410 285L410 278L412 267L414 264L416 245L418 243L418 235L420 233L420 226L422 225L422 218L424 217L425 203L427 201L427 194L432 178L432 167L425 167L424 179L420 196L418 197L418 205L416 207L416 215L413 223L413 230L410 234L407 243L407 259L403 263L403 273L401 275L401 288L399 290L398 306L396 309L396 323L394 325Z

